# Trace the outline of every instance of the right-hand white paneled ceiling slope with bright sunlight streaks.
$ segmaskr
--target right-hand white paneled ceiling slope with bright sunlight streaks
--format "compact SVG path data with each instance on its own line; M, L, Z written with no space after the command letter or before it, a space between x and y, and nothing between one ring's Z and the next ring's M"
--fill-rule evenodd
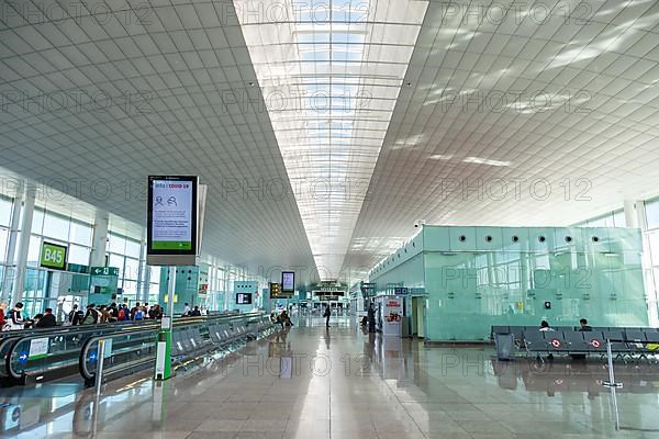
M346 272L417 221L568 225L659 193L659 3L470 3L428 7Z

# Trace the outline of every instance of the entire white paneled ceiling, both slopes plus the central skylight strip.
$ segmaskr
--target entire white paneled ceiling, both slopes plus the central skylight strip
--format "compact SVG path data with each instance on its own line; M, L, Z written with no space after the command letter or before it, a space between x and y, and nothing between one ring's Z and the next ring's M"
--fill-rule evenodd
M137 224L147 175L199 173L204 251L347 281L417 221L565 225L657 195L659 3L7 3L0 167L83 179Z

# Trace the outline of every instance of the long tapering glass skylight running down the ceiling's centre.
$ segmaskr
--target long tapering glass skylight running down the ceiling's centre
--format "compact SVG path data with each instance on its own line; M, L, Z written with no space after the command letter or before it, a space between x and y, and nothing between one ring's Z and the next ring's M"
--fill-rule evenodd
M289 178L303 189L316 267L337 279L428 3L234 3Z

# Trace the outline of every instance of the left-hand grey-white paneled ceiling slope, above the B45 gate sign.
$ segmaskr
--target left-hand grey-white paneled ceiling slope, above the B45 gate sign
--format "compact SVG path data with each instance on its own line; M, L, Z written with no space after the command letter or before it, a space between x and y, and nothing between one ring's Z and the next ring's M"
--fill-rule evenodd
M0 166L137 224L146 176L199 175L205 254L254 273L302 267L308 281L313 256L231 3L89 3L96 16L81 2L3 4L15 10L0 25Z

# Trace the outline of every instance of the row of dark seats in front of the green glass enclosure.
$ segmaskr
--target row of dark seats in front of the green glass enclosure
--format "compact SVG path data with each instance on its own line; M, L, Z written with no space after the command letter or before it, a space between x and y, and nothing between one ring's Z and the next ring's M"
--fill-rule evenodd
M498 334L514 336L514 349L517 353L604 356L606 341L612 340L611 348L616 358L647 358L649 354L659 354L657 328L593 328L591 331L554 328L550 331L540 331L537 327L492 327L492 334L493 337Z

